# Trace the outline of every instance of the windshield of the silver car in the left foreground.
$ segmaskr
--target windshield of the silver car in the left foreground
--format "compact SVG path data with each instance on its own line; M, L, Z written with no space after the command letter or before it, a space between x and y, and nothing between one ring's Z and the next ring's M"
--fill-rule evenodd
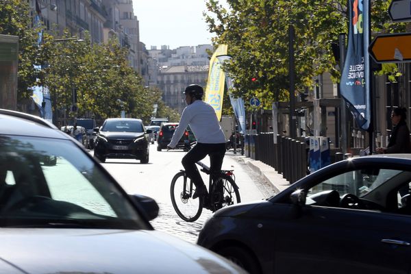
M0 151L0 226L146 226L119 186L70 140L0 136Z

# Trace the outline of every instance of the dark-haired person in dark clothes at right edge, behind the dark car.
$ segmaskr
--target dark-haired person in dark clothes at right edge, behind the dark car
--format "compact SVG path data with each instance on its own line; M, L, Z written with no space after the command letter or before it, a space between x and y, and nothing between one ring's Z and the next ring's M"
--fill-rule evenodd
M394 108L391 112L391 121L393 122L393 131L387 147L377 147L377 153L411 153L410 129L407 123L406 108Z

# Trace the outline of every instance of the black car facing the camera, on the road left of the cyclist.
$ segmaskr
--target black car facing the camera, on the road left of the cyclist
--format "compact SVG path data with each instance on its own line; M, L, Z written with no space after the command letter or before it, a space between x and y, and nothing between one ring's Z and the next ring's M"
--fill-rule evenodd
M101 128L95 129L94 155L101 162L106 158L127 158L149 162L148 134L140 119L110 118L103 122Z

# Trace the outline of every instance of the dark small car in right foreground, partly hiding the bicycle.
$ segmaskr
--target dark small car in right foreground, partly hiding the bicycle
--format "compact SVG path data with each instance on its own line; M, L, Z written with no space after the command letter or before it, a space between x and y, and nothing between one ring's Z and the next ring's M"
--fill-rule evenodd
M326 166L214 213L198 244L249 273L409 273L411 154Z

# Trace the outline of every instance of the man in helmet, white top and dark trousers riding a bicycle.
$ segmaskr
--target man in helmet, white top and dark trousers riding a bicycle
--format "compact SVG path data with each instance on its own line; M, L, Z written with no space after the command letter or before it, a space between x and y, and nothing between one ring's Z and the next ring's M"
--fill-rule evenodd
M182 117L171 138L171 142L167 146L169 149L173 149L177 145L178 140L182 138L187 126L190 125L192 133L197 139L197 145L184 155L182 164L187 176L192 179L196 187L192 199L196 199L199 196L207 197L208 195L206 185L195 163L209 155L210 170L217 172L221 170L225 155L225 135L223 129L220 127L214 108L202 100L203 94L203 88L197 84L191 84L186 87L184 95L186 95L187 106L182 112Z

